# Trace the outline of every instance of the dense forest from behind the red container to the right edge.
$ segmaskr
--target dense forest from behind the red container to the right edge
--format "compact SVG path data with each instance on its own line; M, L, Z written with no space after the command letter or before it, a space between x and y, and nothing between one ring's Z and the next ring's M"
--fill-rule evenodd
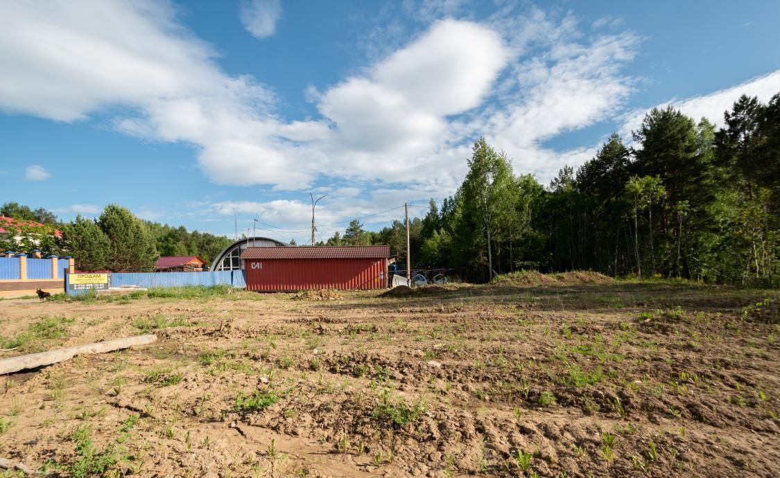
M473 281L534 268L780 285L780 94L740 97L723 125L655 108L633 145L612 134L548 186L480 139L457 192L410 222L413 267ZM388 244L406 260L400 220L378 232L355 220L326 243Z

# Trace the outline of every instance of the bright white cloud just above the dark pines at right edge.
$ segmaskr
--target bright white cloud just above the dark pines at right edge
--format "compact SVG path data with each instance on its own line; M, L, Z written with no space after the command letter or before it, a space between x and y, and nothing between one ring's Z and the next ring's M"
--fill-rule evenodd
M690 116L695 121L702 118L708 119L715 126L724 126L723 113L731 110L734 102L740 96L746 94L750 97L758 97L759 101L768 102L774 94L780 91L780 69L769 73L768 75L758 76L744 83L739 83L733 87L714 91L710 94L690 97L683 100L673 99L665 103L657 104L656 108L672 108ZM620 134L626 139L631 138L631 132L642 126L644 116L652 108L638 108L624 115L624 123L620 129Z

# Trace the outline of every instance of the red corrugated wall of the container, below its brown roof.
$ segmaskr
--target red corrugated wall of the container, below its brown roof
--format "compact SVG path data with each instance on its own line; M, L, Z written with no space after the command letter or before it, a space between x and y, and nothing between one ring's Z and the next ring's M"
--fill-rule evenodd
M247 259L246 289L384 289L387 259Z

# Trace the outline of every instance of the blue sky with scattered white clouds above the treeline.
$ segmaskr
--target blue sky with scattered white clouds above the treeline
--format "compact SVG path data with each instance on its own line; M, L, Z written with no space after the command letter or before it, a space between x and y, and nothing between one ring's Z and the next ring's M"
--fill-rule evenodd
M548 182L644 112L780 91L780 3L2 2L0 202L305 243L459 185ZM414 210L419 211L419 210ZM268 228L268 226L264 226Z

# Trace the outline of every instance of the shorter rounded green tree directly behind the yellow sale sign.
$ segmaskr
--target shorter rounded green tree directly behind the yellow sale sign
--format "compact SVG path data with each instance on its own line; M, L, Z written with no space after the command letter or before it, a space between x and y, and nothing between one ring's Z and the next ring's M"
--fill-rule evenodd
M73 256L81 271L103 270L112 257L108 235L95 221L81 215L62 226L62 249Z

